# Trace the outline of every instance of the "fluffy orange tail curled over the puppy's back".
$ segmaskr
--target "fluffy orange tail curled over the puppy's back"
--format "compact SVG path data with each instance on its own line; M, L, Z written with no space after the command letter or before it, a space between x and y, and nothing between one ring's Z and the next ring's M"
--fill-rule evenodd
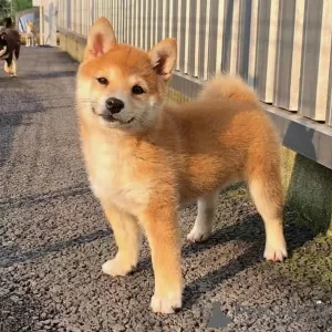
M229 74L218 74L208 81L199 94L199 98L231 98L242 102L259 103L253 90L240 77Z

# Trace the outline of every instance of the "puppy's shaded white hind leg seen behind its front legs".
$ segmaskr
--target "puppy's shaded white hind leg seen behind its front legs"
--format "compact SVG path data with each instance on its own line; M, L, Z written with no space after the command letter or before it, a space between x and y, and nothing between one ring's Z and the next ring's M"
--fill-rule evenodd
M212 232L214 216L218 199L218 191L198 198L198 212L195 225L187 239L193 242L206 240Z

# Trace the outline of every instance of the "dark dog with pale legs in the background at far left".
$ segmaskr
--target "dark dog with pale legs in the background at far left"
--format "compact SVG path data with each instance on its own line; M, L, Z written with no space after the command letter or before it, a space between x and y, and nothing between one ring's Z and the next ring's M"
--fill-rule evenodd
M4 71L11 76L17 76L20 48L20 33L13 29L11 18L8 18L4 28L0 29L0 60L4 60Z

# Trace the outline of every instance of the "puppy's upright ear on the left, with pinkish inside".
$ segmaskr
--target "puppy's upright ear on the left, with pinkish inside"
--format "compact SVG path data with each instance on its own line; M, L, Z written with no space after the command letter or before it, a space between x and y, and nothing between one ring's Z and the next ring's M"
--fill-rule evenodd
M106 18L97 19L89 32L84 61L107 53L115 44L116 39L111 22Z

